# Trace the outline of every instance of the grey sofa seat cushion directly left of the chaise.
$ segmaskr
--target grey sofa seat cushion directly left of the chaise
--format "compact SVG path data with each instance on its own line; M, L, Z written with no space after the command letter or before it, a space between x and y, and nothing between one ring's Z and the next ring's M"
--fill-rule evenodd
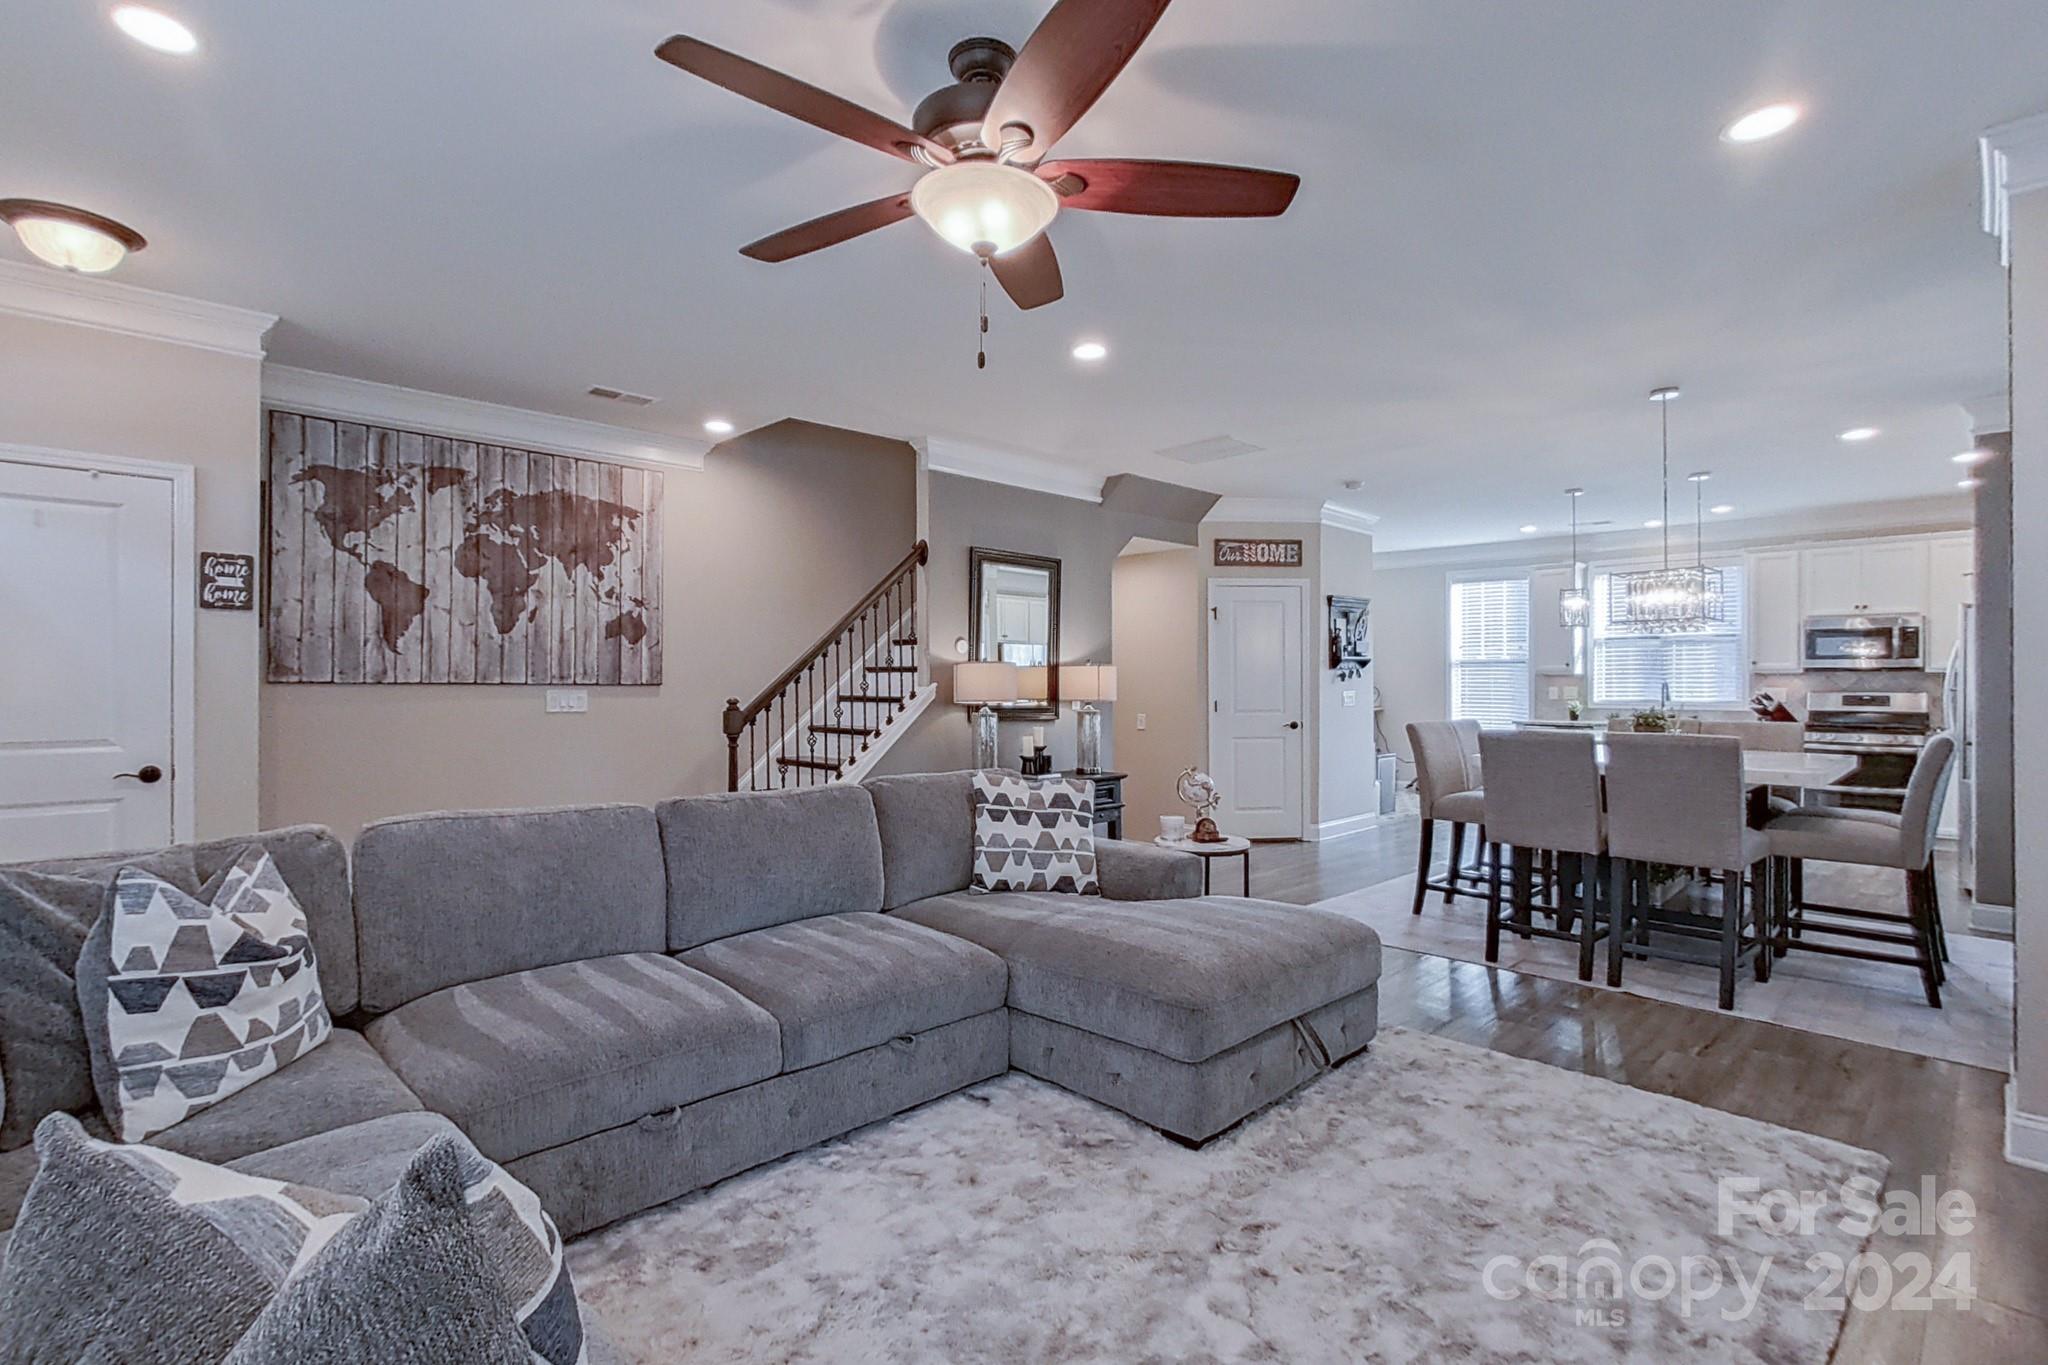
M782 1070L999 1009L1010 984L985 948L872 913L756 929L680 960L776 1017Z

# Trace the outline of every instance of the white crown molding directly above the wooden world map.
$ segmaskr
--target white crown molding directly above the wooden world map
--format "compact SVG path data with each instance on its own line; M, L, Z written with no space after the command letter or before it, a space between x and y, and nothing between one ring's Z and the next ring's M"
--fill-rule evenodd
M311 417L377 422L436 436L584 454L627 465L659 465L662 469L698 471L711 448L711 442L682 436L637 432L625 426L481 403L449 393L379 385L346 375L299 370L289 364L262 366L262 401L264 407L285 407Z

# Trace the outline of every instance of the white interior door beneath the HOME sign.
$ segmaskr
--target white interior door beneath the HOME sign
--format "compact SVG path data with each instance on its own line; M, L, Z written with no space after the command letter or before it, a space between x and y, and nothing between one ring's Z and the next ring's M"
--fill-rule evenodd
M1208 765L1229 835L1303 835L1307 600L1303 583L1208 585Z

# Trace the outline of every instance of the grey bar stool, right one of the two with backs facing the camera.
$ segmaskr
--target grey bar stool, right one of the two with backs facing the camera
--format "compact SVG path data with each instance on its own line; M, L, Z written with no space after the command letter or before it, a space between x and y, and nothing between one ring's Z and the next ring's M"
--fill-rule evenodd
M1718 941L1722 1009L1735 1009L1735 972L1743 958L1753 962L1757 980L1769 980L1769 841L1749 829L1743 806L1739 741L1608 735L1608 896L1616 907L1616 933L1608 939L1610 986L1622 984L1622 945L1636 923L1667 937ZM1653 911L1647 894L1638 900L1632 890L1642 886L1647 892L1655 864L1720 872L1720 915ZM1698 960L1651 933L1638 935L1628 952Z

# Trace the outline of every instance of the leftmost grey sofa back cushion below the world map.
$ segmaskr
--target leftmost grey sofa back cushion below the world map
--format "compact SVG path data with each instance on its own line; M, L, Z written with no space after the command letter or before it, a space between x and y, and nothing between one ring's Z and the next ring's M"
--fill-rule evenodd
M659 952L662 839L645 806L451 810L356 839L362 1009L612 954Z

